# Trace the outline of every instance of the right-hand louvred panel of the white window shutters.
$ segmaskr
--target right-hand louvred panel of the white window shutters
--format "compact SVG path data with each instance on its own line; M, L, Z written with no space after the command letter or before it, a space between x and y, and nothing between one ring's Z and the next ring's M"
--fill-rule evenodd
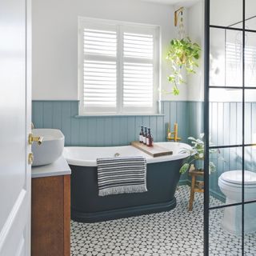
M123 59L124 109L147 108L153 112L154 35L124 32Z

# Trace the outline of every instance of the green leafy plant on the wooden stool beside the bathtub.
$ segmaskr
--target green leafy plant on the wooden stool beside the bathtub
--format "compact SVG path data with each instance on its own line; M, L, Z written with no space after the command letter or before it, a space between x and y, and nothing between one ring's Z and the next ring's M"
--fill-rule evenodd
M204 134L200 134L199 138L189 137L188 139L191 141L192 149L182 149L180 153L190 154L190 157L186 159L186 162L182 165L179 172L181 174L185 174L187 170L190 169L190 165L195 161L203 161L205 157L205 143L203 141ZM210 143L212 144L212 143ZM210 149L209 154L217 154L218 158L222 158L219 150ZM216 166L214 162L209 162L209 173L214 172L216 170Z

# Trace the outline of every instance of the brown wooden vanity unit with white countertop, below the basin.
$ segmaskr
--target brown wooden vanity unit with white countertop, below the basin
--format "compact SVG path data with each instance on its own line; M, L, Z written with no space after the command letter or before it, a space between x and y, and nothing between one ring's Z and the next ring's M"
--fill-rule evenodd
M31 255L70 256L70 167L32 168Z

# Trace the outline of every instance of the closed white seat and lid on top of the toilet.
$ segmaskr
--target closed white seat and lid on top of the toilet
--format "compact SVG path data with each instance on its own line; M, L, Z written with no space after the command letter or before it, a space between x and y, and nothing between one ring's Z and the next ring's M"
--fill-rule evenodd
M226 184L230 183L230 186L242 186L242 170L230 170L223 173L219 179ZM256 173L245 170L244 176L245 186L256 186Z

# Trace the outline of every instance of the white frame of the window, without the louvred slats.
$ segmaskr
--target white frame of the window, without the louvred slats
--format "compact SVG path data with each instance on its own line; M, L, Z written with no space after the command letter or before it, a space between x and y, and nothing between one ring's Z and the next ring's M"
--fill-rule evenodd
M102 23L104 28L110 26L116 26L117 34L123 34L123 32L131 33L152 33L154 35L154 57L153 57L153 67L154 67L154 86L153 86L153 106L150 107L141 107L141 106L130 106L123 107L122 102L122 65L123 65L123 50L122 50L122 37L118 36L118 48L117 48L117 57L109 59L116 59L117 62L117 95L116 107L90 107L86 109L83 104L84 98L84 81L83 81L83 63L85 59L85 54L83 50L83 30L86 26L90 26L95 29L101 29ZM158 114L159 113L159 99L160 99L160 26L148 25L148 24L139 24L134 22L120 22L113 20L105 20L98 18L84 18L78 17L78 95L79 95L79 115L104 115L104 114ZM108 57L106 57L107 59ZM128 59L128 58L126 58Z

